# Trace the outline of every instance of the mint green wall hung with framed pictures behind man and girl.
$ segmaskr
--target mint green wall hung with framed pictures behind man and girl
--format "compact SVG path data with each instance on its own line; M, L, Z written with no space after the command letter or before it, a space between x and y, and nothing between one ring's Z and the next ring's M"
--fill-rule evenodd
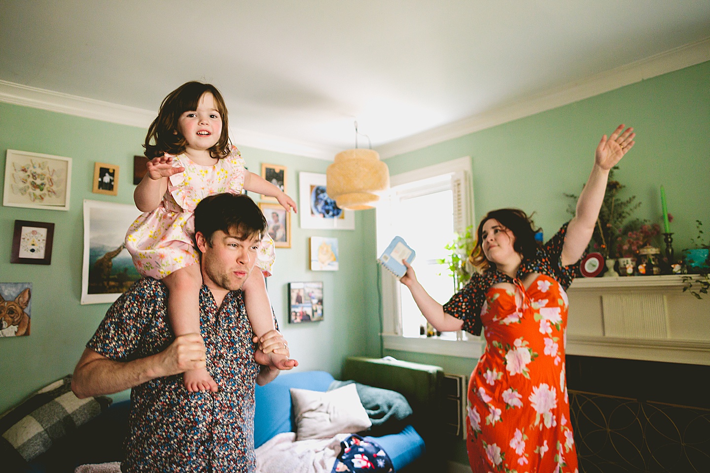
M35 108L0 103L0 175L4 179L5 150L23 150L72 158L70 211L0 207L0 282L32 282L31 335L0 339L0 413L49 382L72 372L84 344L97 328L109 304L80 304L83 255L83 199L133 203L133 155L142 154L146 130L90 120ZM241 148L247 166L257 174L261 163L288 167L288 193L298 200L298 171L325 172L323 160ZM94 162L120 167L118 196L93 194ZM251 194L258 200L258 196ZM10 264L14 221L55 223L52 264ZM292 247L278 248L274 275L269 278L271 301L288 338L297 369L324 369L339 375L342 359L378 352L377 330L363 330L364 235L373 234L371 221L356 214L356 230L302 230L292 216ZM308 269L308 238L338 238L340 270ZM289 325L288 282L322 281L324 321ZM371 345L371 346L370 346ZM377 351L374 351L377 350ZM127 393L114 396L125 399Z

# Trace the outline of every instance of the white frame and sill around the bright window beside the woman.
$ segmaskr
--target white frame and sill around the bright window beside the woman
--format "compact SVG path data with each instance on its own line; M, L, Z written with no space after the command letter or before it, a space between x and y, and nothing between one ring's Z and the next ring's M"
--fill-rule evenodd
M437 165L414 169L390 178L391 188L383 193L376 207L377 254L385 250L392 238L397 234L393 228L391 215L395 211L396 188L423 179L451 174L452 193L454 199L454 228L461 233L471 225L474 216L474 193L471 184L471 157L464 156L456 160L442 162ZM454 357L478 358L483 353L484 343L477 337L469 336L468 340L442 340L437 337L412 338L402 335L402 301L398 280L378 265L380 272L380 289L382 298L382 333L383 347L388 350L406 352L430 353Z

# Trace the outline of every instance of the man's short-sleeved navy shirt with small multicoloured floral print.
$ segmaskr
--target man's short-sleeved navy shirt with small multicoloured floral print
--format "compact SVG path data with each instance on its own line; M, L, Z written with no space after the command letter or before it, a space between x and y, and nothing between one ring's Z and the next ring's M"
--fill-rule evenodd
M110 360L153 355L173 341L167 289L143 278L109 309L87 347ZM222 307L207 286L200 291L200 328L207 347L207 370L217 393L190 393L182 374L153 379L131 390L124 473L226 472L255 469L254 383L251 325L241 291Z

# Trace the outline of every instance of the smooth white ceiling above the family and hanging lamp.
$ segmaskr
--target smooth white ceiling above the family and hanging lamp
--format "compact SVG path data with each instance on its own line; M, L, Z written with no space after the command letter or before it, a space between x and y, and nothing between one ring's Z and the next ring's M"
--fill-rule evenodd
M0 85L117 104L147 126L197 79L224 94L236 143L332 157L357 121L392 155L584 98L580 84L684 45L710 60L707 38L709 0L2 0Z

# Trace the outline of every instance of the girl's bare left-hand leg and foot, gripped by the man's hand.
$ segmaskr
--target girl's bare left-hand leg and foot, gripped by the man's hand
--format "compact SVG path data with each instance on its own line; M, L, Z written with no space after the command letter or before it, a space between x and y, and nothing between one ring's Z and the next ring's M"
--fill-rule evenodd
M191 265L163 278L168 286L168 318L175 335L200 333L200 265ZM206 368L190 369L182 374L187 391L217 391L217 383Z

